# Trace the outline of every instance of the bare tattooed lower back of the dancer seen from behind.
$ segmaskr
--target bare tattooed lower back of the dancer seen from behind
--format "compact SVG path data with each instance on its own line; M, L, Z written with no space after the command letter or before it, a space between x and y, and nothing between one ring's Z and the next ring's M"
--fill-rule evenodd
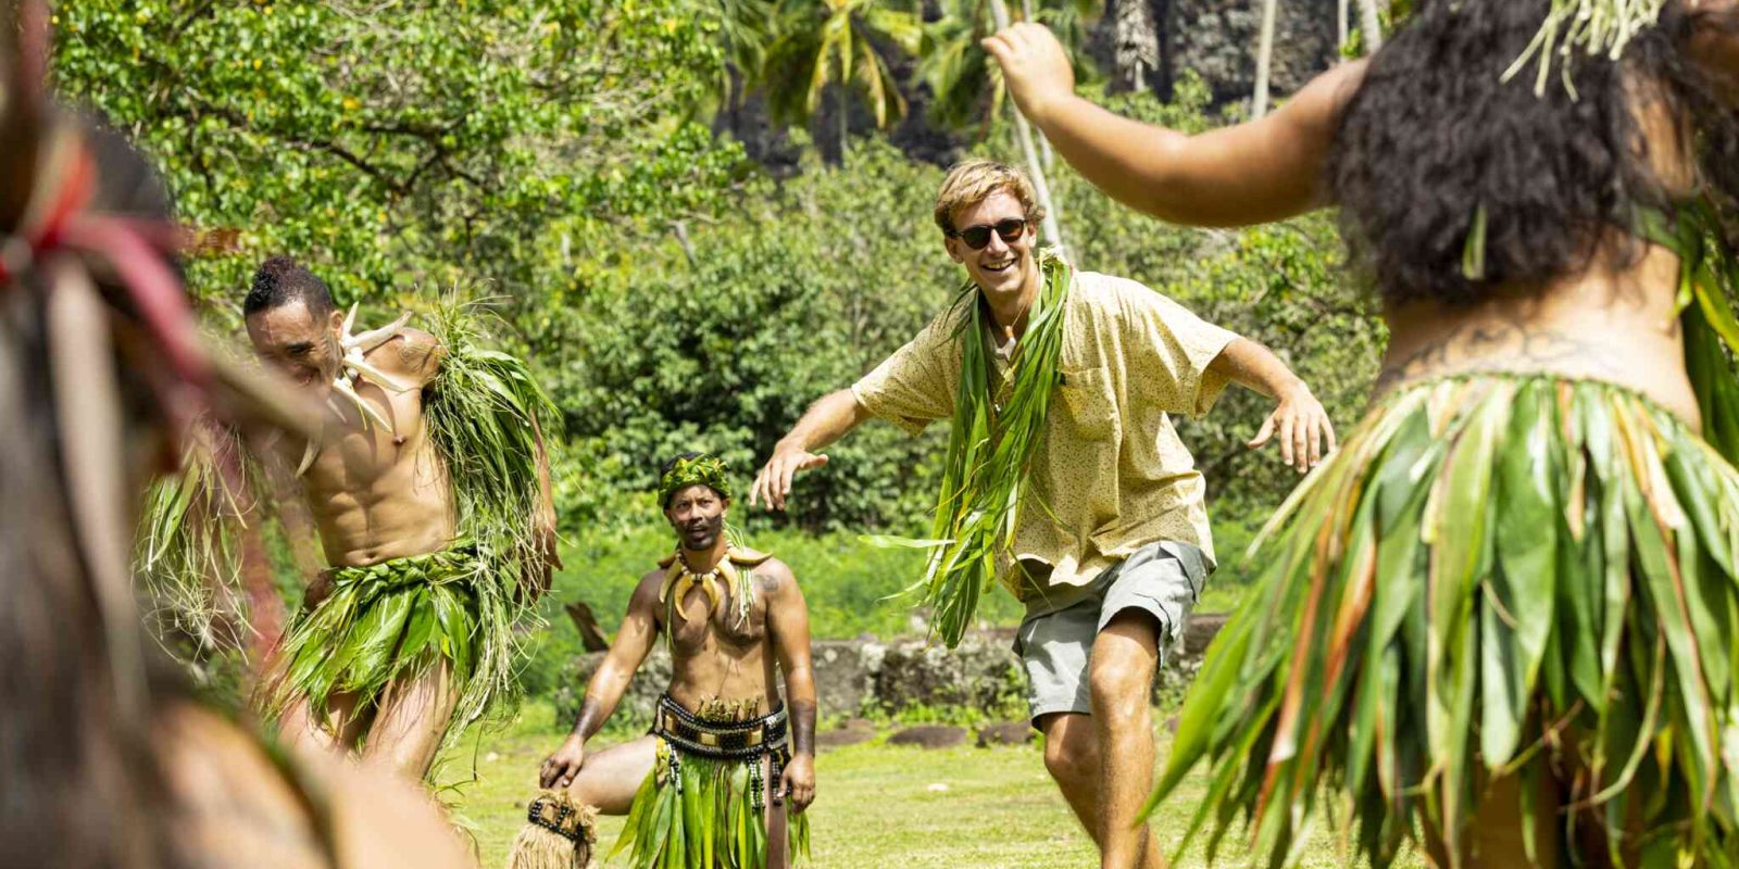
M1656 174L1668 189L1689 193L1694 163L1662 115L1640 118ZM1542 372L1636 389L1701 429L1675 301L1678 255L1650 245L1626 257L1621 252L1636 242L1633 233L1609 228L1582 275L1504 287L1475 306L1419 302L1388 311L1389 348L1374 400L1449 374Z

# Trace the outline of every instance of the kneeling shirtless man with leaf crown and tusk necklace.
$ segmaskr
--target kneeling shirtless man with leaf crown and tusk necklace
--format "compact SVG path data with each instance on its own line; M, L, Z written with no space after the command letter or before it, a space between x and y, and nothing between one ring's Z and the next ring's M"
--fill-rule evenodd
M816 683L809 607L791 568L725 534L725 462L666 466L659 502L676 553L640 579L574 732L544 760L515 869L584 867L596 815L628 815L612 853L633 867L760 869L809 855L816 798ZM596 754L586 740L616 711L659 633L671 683L652 732ZM774 662L790 706L779 702ZM790 815L786 812L790 810Z

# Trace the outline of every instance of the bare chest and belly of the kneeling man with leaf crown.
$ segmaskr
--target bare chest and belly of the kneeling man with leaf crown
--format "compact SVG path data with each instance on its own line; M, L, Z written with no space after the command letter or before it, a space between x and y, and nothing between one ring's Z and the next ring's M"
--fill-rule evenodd
M699 709L713 699L760 700L762 713L779 704L763 574L772 565L777 561L755 568L755 603L748 619L739 619L736 589L727 582L720 582L722 600L711 612L711 600L699 586L690 587L675 607L659 607L659 629L668 631L671 641L670 695L685 709Z

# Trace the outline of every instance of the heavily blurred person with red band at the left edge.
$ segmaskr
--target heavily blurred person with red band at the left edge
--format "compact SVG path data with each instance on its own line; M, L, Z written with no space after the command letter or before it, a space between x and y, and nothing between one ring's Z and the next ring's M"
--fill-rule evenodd
M42 99L42 7L0 19L0 866L466 866L412 789L289 756L153 664L139 494L193 415L297 414L200 349L150 167Z

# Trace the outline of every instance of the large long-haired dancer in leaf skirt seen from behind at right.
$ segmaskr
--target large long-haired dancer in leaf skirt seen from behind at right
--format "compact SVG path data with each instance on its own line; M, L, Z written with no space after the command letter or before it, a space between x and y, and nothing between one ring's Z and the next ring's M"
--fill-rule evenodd
M1396 3L1400 5L1400 3ZM1739 5L1419 0L1372 59L1183 136L986 40L1111 196L1198 226L1337 205L1391 330L1282 507L1156 798L1296 864L1739 864ZM1330 813L1334 815L1334 813Z

